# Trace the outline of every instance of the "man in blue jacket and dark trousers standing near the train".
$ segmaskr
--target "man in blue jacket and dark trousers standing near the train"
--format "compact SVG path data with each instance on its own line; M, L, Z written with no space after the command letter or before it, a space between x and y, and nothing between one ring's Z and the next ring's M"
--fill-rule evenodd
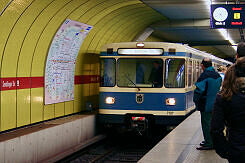
M201 112L201 124L204 141L200 143L197 150L213 149L213 142L210 135L210 123L212 117L212 108L217 92L220 90L222 78L212 67L210 58L204 58L201 63L203 73L195 83L193 101L196 109Z

